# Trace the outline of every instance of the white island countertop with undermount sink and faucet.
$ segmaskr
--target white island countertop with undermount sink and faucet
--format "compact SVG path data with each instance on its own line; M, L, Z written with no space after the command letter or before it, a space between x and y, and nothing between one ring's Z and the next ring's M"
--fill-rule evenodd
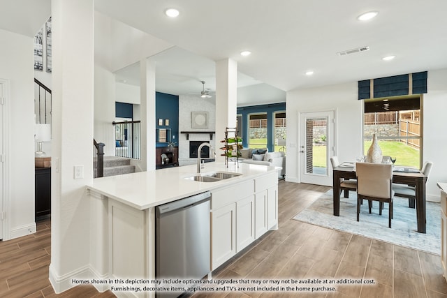
M193 181L184 178L197 174L197 165L185 165L96 178L91 185L87 185L87 189L136 209L144 210L197 193L211 191L247 179L254 179L268 172L276 172L277 168L249 163L239 163L239 167L234 163L229 163L226 167L224 163L213 162L205 163L205 169L201 169L202 174L218 171L235 172L242 175L216 182Z

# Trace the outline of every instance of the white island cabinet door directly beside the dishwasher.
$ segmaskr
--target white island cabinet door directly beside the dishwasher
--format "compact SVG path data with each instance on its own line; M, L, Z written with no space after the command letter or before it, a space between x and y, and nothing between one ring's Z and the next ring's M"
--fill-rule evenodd
M236 254L236 204L228 204L211 214L214 270Z

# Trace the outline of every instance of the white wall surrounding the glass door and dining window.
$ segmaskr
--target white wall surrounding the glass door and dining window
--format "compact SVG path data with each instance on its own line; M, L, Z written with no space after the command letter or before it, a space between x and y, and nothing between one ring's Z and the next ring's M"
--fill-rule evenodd
M447 70L428 72L428 92L424 95L423 161L433 161L427 182L427 199L439 198L437 181L447 181L444 151L447 135L443 122L447 110ZM358 100L358 83L351 82L314 89L288 91L286 179L300 181L300 133L298 113L320 110L336 111L335 154L340 161L353 161L362 155L362 100ZM442 152L442 153L441 153Z

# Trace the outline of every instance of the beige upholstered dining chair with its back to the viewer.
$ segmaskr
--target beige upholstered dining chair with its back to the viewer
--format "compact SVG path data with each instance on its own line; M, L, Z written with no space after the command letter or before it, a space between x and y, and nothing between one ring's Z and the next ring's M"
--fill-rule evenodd
M383 203L390 205L388 228L393 218L393 165L386 163L356 163L357 175L357 221L360 217L360 204L368 200L369 214L372 201L379 202L379 214L382 215Z

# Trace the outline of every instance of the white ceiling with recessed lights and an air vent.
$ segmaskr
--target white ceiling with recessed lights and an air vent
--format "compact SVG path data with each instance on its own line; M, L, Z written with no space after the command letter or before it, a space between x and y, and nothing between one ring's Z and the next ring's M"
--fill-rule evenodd
M284 91L293 89L447 67L447 1L323 2L96 0L95 6L104 15L175 45L153 57L158 59L157 89L171 94L200 93L200 80L214 90L213 61L225 58L237 61L238 105L278 101L270 96L285 99ZM30 36L36 23L47 19L49 3L0 0L0 28ZM177 8L179 17L166 17L163 11L168 7ZM379 15L367 22L356 19L370 10ZM370 50L336 54L362 46ZM242 57L242 50L252 54ZM393 61L381 60L390 54L396 56ZM307 70L314 75L305 76ZM191 91L195 84L196 91ZM256 94L256 89L265 98L247 96L241 104L240 96Z

